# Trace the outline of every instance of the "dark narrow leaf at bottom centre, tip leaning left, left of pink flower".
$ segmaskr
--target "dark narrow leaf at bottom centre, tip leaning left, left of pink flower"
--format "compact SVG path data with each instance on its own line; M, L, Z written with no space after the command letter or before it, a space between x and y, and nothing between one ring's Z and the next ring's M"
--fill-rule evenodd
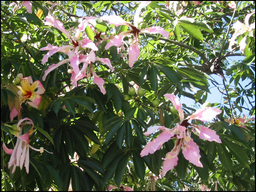
M125 175L126 166L129 159L129 153L125 154L122 159L118 162L116 166L116 172L115 172L115 182L116 186L120 186L123 176Z

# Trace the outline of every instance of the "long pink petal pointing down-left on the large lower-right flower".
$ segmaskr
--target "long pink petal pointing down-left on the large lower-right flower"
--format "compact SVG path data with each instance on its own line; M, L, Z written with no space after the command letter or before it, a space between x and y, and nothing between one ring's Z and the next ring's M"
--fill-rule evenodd
M144 149L140 152L140 156L143 157L148 155L148 153L152 154L155 151L159 150L166 141L170 140L171 137L173 137L173 135L173 133L168 131L162 132L156 139L150 141L148 144L145 145Z

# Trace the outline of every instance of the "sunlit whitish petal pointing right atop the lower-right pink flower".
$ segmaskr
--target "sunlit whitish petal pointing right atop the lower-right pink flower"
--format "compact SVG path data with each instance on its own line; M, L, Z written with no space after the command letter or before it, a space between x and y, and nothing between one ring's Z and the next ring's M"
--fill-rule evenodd
M203 107L198 109L191 116L188 116L187 119L198 119L202 122L207 122L212 120L216 115L221 113L221 110L213 108L213 107Z

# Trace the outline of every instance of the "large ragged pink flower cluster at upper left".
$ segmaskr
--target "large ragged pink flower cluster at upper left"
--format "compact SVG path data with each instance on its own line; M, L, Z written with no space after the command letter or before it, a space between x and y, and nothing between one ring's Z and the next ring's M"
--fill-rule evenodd
M48 46L43 47L39 49L40 51L49 51L47 54L44 55L42 59L42 63L46 63L50 56L55 54L56 52L63 52L67 54L68 58L61 60L58 64L51 64L47 70L44 72L43 81L45 81L46 76L62 64L70 63L70 69L68 70L68 73L71 73L71 84L74 87L77 87L77 81L80 79L83 79L84 77L91 77L91 72L93 72L94 80L93 82L96 83L99 87L102 93L106 93L103 84L104 80L96 75L96 73L93 70L92 63L99 61L100 63L106 64L111 70L114 70L112 65L110 64L110 60L108 58L98 58L96 57L94 51L98 51L98 47L94 44L93 41L91 41L86 33L83 33L85 31L85 28L89 26L91 29L94 29L93 26L90 23L93 23L96 17L86 17L86 18L79 18L78 22L78 28L76 29L75 35L71 35L71 32L68 32L65 28L63 23L61 23L59 20L47 16L45 17L45 20L49 23L52 23L52 25L59 29L63 34L67 36L69 39L69 43L72 43L71 45L64 45L61 47L53 46L51 44L48 44ZM89 23L90 22L90 23ZM91 49L89 53L85 51L85 49ZM83 66L80 69L80 64L83 64ZM89 67L88 67L89 65Z

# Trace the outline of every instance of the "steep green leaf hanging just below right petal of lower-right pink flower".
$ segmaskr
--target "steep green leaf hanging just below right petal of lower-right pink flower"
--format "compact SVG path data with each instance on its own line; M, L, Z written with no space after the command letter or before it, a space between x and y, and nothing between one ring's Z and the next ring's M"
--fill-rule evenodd
M232 171L233 169L233 162L232 159L226 150L225 146L223 144L216 143L217 148L218 148L218 156L221 164L223 167L228 169L229 171Z

